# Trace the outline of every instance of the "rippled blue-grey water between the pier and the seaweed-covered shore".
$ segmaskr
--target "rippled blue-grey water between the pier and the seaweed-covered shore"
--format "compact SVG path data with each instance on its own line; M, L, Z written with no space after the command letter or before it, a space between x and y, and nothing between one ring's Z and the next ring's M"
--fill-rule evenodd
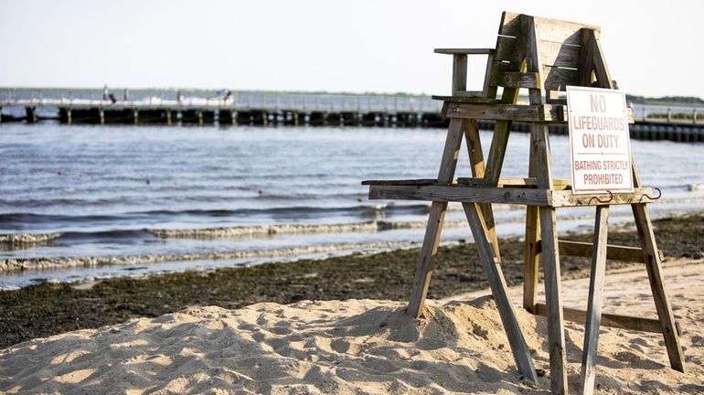
M369 201L360 181L436 176L445 133L0 125L0 235L44 239L0 242L0 264L76 266L0 272L0 288L417 244L428 205ZM485 153L490 137L482 133ZM570 174L568 143L551 138L557 177ZM688 190L704 184L701 144L632 146L645 185L663 191L655 216L703 207L704 192ZM527 157L528 134L513 133L502 176L525 176ZM464 158L457 176L470 176ZM559 216L560 230L592 226L591 209ZM471 239L463 217L451 205L443 240ZM496 207L496 219L500 234L522 233L522 208Z

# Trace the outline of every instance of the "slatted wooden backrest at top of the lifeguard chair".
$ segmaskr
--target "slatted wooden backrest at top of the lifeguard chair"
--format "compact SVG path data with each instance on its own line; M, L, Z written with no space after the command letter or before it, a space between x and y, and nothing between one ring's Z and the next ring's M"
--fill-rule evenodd
M584 35L583 29L591 30L591 36ZM539 82L534 82L535 86L532 86L530 79L524 75L526 81L520 85L521 88L565 91L567 85L589 85L592 82L592 54L587 57L586 53L582 53L586 52L586 48L582 51L582 47L591 46L594 40L585 38L598 39L599 31L600 27L596 26L504 12L496 39L496 53L487 65L485 91L489 97L496 97L496 87L515 88L517 81L509 79L506 73L525 72L527 60L528 70L539 73L536 79ZM536 51L538 65L531 67L531 60L527 59L529 50ZM586 81L581 80L585 78L581 73L585 72L589 73Z

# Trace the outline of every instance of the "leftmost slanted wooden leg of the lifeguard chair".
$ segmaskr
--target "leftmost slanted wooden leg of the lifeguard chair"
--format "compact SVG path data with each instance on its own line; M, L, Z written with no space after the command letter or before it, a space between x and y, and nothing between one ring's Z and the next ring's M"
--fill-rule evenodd
M461 119L450 120L450 127L447 130L443 159L438 172L438 182L451 183L454 177L454 169L457 167L457 158L462 147L462 136L464 125ZM416 318L422 315L425 296L428 294L428 286L431 283L432 266L435 256L438 253L440 235L443 231L447 202L432 202L431 212L428 216L428 225L425 228L425 237L421 247L421 255L418 259L413 288L411 290L411 300L406 312Z

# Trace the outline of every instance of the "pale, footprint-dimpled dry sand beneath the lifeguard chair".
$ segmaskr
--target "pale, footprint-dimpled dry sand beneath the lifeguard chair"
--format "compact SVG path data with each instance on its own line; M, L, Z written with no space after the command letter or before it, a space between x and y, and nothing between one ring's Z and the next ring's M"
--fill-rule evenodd
M603 328L597 393L704 392L704 261L665 266L683 330L686 374L669 368L662 336ZM645 268L609 273L604 312L655 317ZM323 281L321 279L321 281ZM564 304L585 306L588 279L563 282ZM193 307L157 318L30 340L0 351L5 393L548 393L514 366L487 292L405 304L347 300ZM510 290L520 303L520 289ZM538 369L549 369L542 317L517 309ZM581 326L566 329L578 389Z

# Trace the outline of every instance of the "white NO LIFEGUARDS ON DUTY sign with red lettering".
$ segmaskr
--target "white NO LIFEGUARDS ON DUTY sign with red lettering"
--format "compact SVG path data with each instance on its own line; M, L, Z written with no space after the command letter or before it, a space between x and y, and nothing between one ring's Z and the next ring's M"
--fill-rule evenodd
M567 87L572 193L633 192L625 94Z

